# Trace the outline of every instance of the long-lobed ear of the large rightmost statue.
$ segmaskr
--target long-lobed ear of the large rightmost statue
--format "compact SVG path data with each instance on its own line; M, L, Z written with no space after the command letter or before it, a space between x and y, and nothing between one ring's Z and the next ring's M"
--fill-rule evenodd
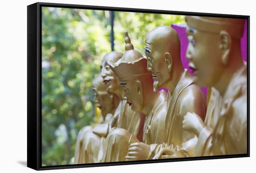
M221 31L220 32L220 50L221 50L221 60L222 64L226 65L228 60L229 60L229 52L231 48L231 38L228 32L226 31Z

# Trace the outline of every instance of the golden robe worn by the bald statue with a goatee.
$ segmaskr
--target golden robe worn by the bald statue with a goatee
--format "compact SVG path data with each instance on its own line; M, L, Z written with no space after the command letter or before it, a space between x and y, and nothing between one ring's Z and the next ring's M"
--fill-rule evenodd
M194 154L197 137L182 128L183 117L187 112L196 113L204 120L206 113L206 99L201 88L193 83L187 69L177 83L173 94L168 92L168 110L166 116L167 141L158 143L152 148L151 158L159 159L162 148L173 146L182 148L187 155Z

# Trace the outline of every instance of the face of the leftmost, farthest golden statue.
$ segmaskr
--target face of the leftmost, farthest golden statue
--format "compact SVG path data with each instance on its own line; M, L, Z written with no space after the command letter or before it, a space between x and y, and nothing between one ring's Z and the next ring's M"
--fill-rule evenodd
M93 86L94 101L97 107L101 109L101 114L105 117L113 110L113 95L107 92L107 90L99 90L97 86Z

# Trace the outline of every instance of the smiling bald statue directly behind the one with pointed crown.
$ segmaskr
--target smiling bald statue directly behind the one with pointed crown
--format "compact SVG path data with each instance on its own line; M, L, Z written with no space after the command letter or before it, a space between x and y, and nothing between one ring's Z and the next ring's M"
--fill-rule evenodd
M108 87L108 91L119 97L120 102L109 124L108 132L111 128L124 128L129 133L134 134L139 140L142 140L142 127L144 122L143 115L140 115L128 106L126 98L123 96L123 90L116 74L110 69L108 62L115 63L122 57L121 52L112 51L105 55L101 60L101 77ZM108 134L106 134L107 136Z

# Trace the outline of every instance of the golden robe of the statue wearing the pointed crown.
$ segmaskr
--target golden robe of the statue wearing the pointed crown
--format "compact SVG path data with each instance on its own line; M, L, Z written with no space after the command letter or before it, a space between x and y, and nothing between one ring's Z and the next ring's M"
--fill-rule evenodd
M166 93L160 91L152 111L146 115L143 128L143 142L150 145L162 143L165 139ZM123 128L112 130L105 140L105 151L101 162L126 161L131 143L140 142L135 135Z

